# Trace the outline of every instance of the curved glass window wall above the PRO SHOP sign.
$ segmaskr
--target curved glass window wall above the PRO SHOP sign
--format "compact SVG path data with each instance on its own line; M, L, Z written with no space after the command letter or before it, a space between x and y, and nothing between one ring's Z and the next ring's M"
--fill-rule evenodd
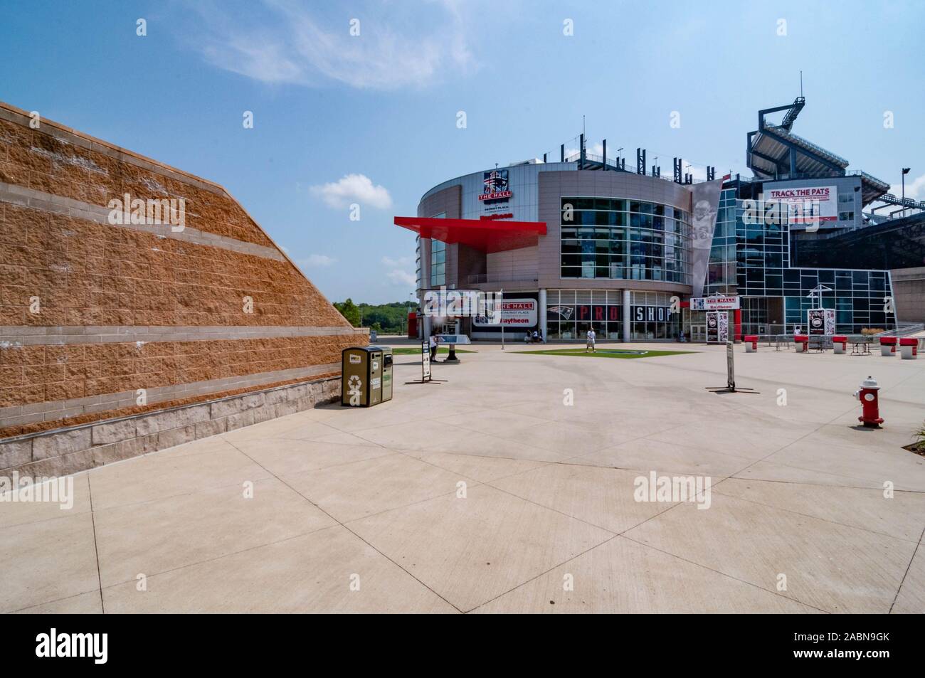
M561 277L690 284L690 215L623 198L561 199Z

